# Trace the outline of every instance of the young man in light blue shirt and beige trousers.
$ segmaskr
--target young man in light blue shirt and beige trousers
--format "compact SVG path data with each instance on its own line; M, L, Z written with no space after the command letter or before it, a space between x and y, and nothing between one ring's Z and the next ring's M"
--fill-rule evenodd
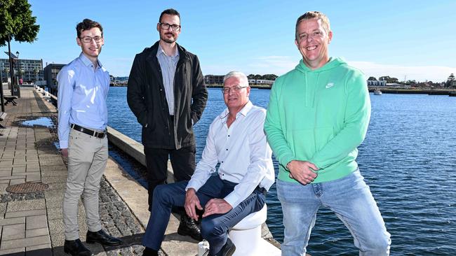
M108 158L107 106L109 73L98 55L105 43L100 23L84 19L76 26L81 54L58 73L58 137L68 157L68 178L63 199L65 253L93 255L79 239L78 201L83 194L87 243L118 246L120 239L102 230L98 192Z

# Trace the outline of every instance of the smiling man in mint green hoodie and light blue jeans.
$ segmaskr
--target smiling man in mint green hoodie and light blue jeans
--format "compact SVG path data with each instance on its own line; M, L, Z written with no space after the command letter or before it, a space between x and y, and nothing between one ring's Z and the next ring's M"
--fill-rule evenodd
M264 131L279 160L282 255L306 254L320 206L344 222L360 255L389 255L390 235L355 161L370 119L366 80L329 57L332 38L326 15L300 16L295 44L302 60L271 90Z

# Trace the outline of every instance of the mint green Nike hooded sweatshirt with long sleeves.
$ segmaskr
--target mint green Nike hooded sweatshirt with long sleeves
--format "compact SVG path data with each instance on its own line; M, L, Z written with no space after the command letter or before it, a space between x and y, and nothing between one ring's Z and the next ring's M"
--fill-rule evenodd
M286 169L292 160L319 170L313 183L356 171L356 156L368 130L370 98L361 71L340 58L319 69L302 60L274 82L264 131L279 161L279 179L297 182Z

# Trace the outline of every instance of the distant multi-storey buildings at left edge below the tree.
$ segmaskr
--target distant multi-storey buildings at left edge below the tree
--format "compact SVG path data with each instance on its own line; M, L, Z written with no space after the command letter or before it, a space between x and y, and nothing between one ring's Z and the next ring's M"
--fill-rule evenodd
M19 62L18 62L19 60ZM0 59L0 72L2 82L6 82L10 69L9 59ZM13 59L14 76L18 76L24 80L24 83L34 83L36 78L43 80L43 59ZM22 71L20 75L18 70ZM8 72L6 72L8 71ZM38 73L36 73L38 71Z

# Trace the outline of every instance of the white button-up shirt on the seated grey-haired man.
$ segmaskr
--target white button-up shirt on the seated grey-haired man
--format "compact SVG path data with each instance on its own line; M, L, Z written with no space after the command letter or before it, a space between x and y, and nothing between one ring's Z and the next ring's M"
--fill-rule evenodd
M201 161L196 165L186 190L192 187L198 191L220 163L218 176L222 180L238 183L234 191L224 198L234 208L258 185L269 190L274 183L274 166L271 148L263 131L266 110L253 106L249 101L237 113L229 128L228 114L228 109L225 109L210 124Z

